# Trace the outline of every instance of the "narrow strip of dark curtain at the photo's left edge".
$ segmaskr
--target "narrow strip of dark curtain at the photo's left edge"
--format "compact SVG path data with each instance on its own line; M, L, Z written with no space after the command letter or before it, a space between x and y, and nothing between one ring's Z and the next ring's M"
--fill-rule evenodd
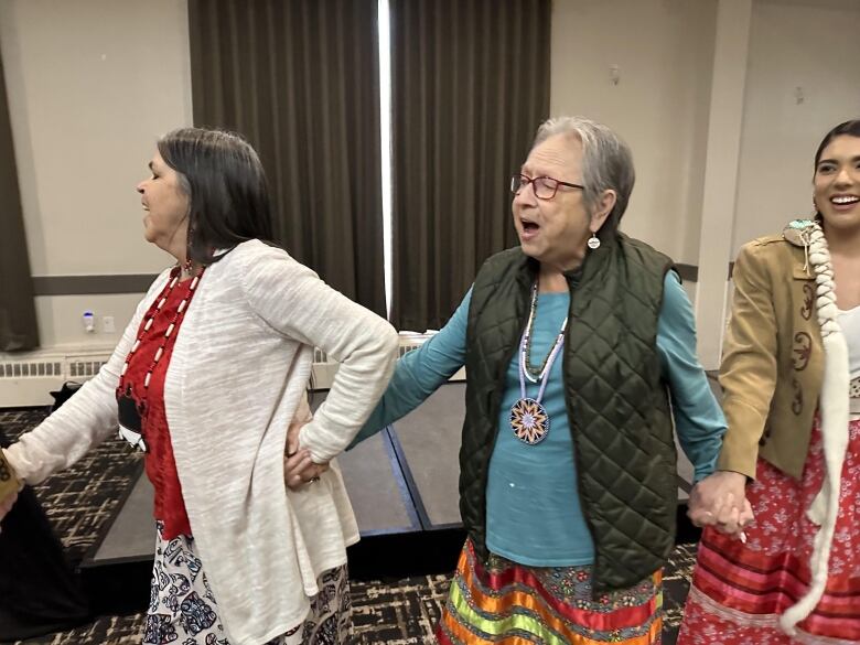
M0 352L39 346L33 280L0 56Z

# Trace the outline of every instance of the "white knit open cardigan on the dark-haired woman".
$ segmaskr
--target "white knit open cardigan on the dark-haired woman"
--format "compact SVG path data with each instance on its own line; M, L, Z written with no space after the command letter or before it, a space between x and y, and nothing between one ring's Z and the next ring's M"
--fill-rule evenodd
M109 362L60 410L9 448L35 484L117 429L115 389L164 271ZM286 251L244 243L203 276L180 329L164 406L192 533L232 643L299 625L316 578L346 562L358 529L340 471L286 488L287 428L304 398L313 346L341 362L300 442L316 462L343 451L385 389L397 334Z

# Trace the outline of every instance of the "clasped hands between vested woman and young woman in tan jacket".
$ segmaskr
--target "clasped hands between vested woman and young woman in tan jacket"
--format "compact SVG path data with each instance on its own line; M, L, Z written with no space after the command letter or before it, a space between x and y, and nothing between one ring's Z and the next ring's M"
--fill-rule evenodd
M692 487L687 516L696 526L713 526L746 541L743 529L755 516L745 488L746 475L718 471Z

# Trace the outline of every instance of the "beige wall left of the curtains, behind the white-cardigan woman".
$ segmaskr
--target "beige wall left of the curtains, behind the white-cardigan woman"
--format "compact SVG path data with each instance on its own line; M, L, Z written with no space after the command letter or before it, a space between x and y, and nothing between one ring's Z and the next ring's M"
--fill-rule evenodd
M34 276L157 272L169 258L142 236L136 183L159 135L189 125L185 0L0 0L28 248ZM111 345L80 314L114 315L136 297L39 298L42 344Z

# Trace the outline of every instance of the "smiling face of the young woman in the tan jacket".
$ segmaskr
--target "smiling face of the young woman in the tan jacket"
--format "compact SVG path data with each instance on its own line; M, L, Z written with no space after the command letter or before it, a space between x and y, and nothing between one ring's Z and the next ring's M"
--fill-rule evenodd
M821 151L813 179L825 227L860 229L860 137L840 135Z

